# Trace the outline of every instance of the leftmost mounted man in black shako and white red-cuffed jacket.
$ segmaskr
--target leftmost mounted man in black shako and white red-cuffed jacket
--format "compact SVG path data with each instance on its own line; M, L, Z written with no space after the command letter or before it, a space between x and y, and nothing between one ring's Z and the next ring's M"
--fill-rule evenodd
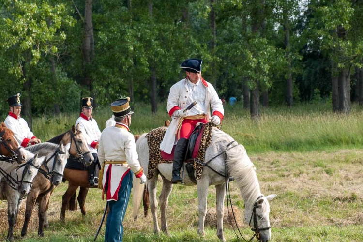
M20 93L7 99L10 111L4 123L11 131L13 131L17 142L22 147L41 143L40 139L35 137L30 131L27 121L20 117L21 103Z

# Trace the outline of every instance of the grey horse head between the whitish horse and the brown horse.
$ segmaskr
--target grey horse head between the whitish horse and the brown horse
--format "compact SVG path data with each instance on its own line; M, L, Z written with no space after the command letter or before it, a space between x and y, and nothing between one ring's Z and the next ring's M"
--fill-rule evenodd
M52 174L50 182L52 182L53 185L57 186L61 184L64 168L67 164L67 159L69 156L68 150L63 145L62 141L59 144L57 151L52 156L54 157L53 162L48 163L47 166L48 169L51 170Z

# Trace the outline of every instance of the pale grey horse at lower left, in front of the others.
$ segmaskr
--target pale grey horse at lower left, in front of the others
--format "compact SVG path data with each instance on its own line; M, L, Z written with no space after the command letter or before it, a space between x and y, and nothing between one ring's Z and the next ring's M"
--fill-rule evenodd
M21 205L21 202L18 201L30 192L33 179L44 162L45 156L38 158L38 153L36 153L29 161L19 165L0 182L0 199L8 200L8 241L14 240L14 226Z

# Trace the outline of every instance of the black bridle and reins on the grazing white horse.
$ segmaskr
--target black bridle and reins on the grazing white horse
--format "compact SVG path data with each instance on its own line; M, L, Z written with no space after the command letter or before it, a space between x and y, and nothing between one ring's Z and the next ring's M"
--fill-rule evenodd
M243 239L244 241L246 241L246 242L250 242L250 241L252 241L255 237L259 240L259 234L260 234L260 232L261 232L261 231L264 231L264 230L269 230L269 229L271 228L271 226L270 226L270 227L263 227L263 228L259 228L259 227L258 227L258 223L257 223L257 213L256 213L256 209L258 208L257 201L258 201L258 199L260 199L261 197L263 197L263 195L260 195L259 197L257 197L257 199L256 199L256 201L255 201L255 203L254 203L254 205L253 205L253 210L252 210L252 215L251 215L251 218L250 218L250 223L249 223L249 225L251 226L251 221L252 221L252 218L253 218L253 224L254 224L254 227L253 227L253 228L251 228L251 230L252 230L252 231L254 231L254 235L251 237L251 239L246 240L246 239L244 239L244 238L243 238L242 233L241 233L241 231L240 231L240 228L238 227L237 220L236 220L236 216L235 216L235 214L234 214L233 207L232 207L232 200L231 200L230 190L229 190L229 174L228 174L228 166L227 166L227 163L225 163L225 174L223 174L223 173L221 173L221 172L219 172L219 171L216 171L215 169L213 169L211 166L209 166L209 165L208 165L208 163L210 163L212 160L214 160L214 159L215 159L215 158L217 158L218 156L220 156L220 155L222 155L222 154L225 154L225 153L226 153L227 151L229 151L230 149L232 149L232 148L234 148L234 147L238 146L238 143L237 143L236 145L234 145L234 146L231 146L234 142L236 142L236 143L237 143L237 141L235 141L235 140L233 140L233 141L229 142L229 143L227 144L227 146L226 146L226 150L225 150L225 151L223 151L223 152L221 152L221 153L217 154L216 156L214 156L212 159L210 159L210 160L209 160L209 161L207 161L207 162L202 162L202 161L200 161L200 160L198 160L198 159L194 159L194 161L195 161L195 162L197 162L197 163L199 163L199 164L201 164L201 165L203 165L203 166L207 166L207 167L208 167L208 168L210 168L213 172L215 172L216 174L218 174L218 175L220 175L220 176L222 176L222 177L224 177L224 178L225 178L226 194L227 194L227 210L228 210L228 214L229 214L229 206L230 206L230 207L231 207L231 210L232 210L233 219L234 219L234 223L235 223L235 225L236 225L237 231L239 232L240 236L242 237L242 239ZM228 202L228 200L229 200L229 202ZM246 207L244 207L244 209L246 209ZM231 219L231 218L230 218L230 216L228 216L228 217L229 217L229 222L232 224L232 221L230 220L230 219ZM236 234L236 237L238 238L238 235L237 235L237 233L236 233L236 231L235 231L235 229L234 229L234 226L232 226L232 228L233 228L234 233Z

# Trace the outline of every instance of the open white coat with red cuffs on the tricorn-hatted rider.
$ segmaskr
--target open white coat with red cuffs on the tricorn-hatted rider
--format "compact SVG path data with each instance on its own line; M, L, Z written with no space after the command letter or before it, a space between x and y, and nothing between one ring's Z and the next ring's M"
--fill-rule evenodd
M213 85L209 82L206 82L203 78L200 79L206 88L204 106L204 113L206 114L206 119L209 121L211 118L211 110L212 114L217 115L221 120L224 115L224 108L222 105L221 99L219 99L217 92L215 91ZM160 150L170 154L174 144L177 142L177 137L175 132L178 128L178 123L180 117L176 117L173 113L178 109L183 109L186 107L186 100L188 100L191 95L191 91L189 90L189 86L187 84L187 78L182 79L181 81L175 83L170 88L169 97L167 99L167 112L169 116L172 118L170 126L166 130L166 134L164 136L163 141L160 144ZM192 97L193 99L193 97Z

